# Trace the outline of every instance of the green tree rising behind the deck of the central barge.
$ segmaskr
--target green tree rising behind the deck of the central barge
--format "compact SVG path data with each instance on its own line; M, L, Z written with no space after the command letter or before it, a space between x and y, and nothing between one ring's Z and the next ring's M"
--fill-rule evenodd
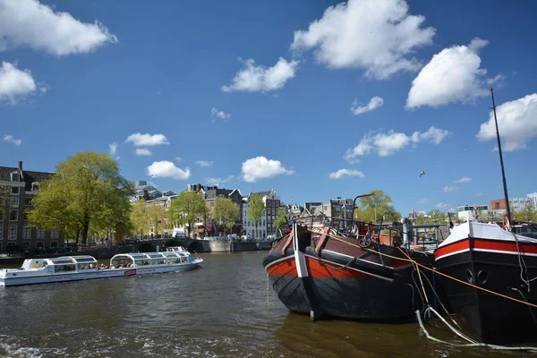
M381 190L374 190L371 196L360 198L360 207L354 210L354 218L365 222L399 221L401 214L396 211L391 198Z

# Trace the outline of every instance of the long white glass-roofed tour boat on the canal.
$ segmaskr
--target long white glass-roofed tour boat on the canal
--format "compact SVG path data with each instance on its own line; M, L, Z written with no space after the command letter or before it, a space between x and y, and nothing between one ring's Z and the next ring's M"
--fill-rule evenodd
M0 269L0 286L47 284L94 278L124 277L185 271L200 266L183 248L176 251L121 253L110 259L110 267L98 265L93 256L27 259L21 268Z

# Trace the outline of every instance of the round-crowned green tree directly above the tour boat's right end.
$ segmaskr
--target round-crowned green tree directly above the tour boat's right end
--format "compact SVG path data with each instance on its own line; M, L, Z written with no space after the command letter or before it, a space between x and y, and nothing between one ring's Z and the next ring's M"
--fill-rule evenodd
M205 200L199 192L181 192L169 209L168 217L179 226L187 225L188 234L198 217L206 212Z

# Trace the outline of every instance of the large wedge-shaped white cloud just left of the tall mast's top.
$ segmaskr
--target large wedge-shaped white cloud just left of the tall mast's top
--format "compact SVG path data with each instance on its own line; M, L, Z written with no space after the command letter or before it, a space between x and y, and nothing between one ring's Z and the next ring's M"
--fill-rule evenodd
M469 103L487 96L484 88L486 69L482 69L477 50L489 41L473 38L468 46L444 48L433 55L418 76L406 98L407 108L438 107L448 103Z

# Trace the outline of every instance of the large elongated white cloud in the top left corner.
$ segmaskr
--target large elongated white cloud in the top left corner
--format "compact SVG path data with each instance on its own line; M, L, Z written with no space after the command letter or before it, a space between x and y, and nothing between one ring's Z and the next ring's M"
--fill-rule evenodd
M53 55L84 54L117 38L95 21L81 22L38 0L0 0L0 50L31 47Z

